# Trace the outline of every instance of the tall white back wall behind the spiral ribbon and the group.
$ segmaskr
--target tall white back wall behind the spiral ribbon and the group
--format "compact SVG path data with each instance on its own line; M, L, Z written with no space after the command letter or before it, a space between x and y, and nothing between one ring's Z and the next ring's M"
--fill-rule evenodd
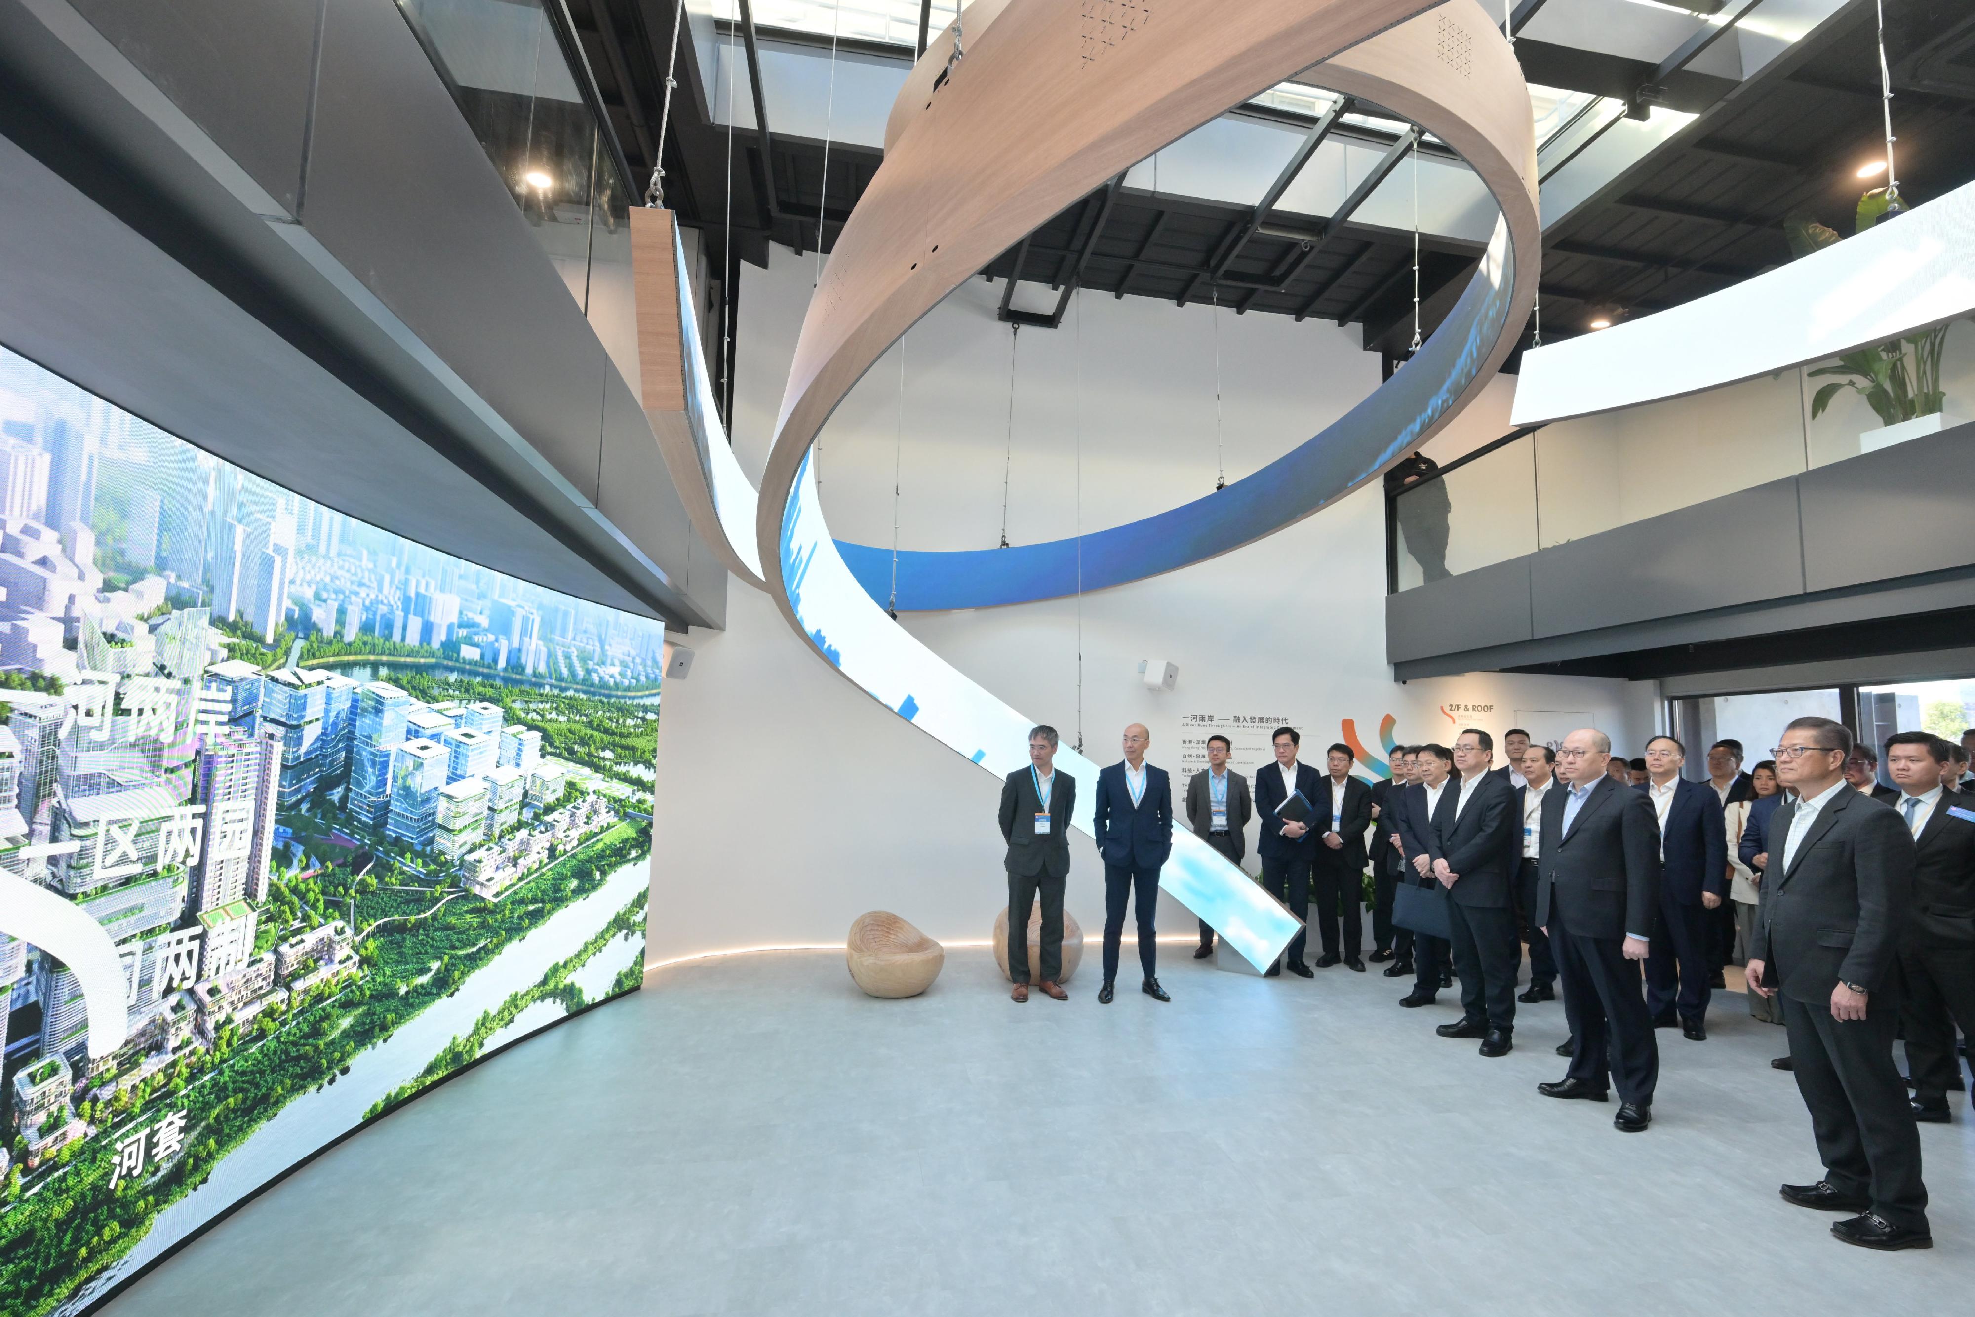
M735 448L750 472L814 278L808 261L782 249L774 257L768 271L747 267L741 292ZM974 280L912 330L903 428L897 355L831 419L822 488L841 537L891 541L895 460L907 549L991 547L1003 468L1015 543L1072 533L1078 403L1084 529L1213 488L1211 308L1100 294L1084 300L1080 338L1074 312L1063 330L1025 330L1009 462L997 292ZM1329 324L1223 312L1221 349L1230 480L1379 381L1377 355ZM1495 438L1507 401L1497 391L1487 403L1438 452ZM1151 729L1151 760L1177 764L1181 719L1197 713L1284 717L1315 762L1345 719L1377 752L1388 713L1400 740L1452 740L1465 725L1497 735L1517 723L1554 727L1564 715L1588 717L1621 748L1653 731L1651 691L1623 681L1485 673L1396 685L1384 663L1377 486L1256 545L1080 604L907 614L905 624L1066 740L1080 725L1100 762L1116 758L1110 746L1138 721ZM988 772L843 681L745 586L731 594L729 630L693 632L691 644L693 675L668 685L660 729L654 962L841 942L869 908L897 910L940 940L988 936L1005 900L999 786ZM1177 689L1144 689L1142 658L1177 663ZM1102 924L1102 869L1086 841L1074 847L1068 906L1092 934ZM1165 908L1161 928L1185 934L1193 922Z

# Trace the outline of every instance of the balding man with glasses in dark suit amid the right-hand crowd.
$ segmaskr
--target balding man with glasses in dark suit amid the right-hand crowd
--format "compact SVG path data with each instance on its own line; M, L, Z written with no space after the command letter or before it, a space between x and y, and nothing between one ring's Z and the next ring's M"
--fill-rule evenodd
M1564 1015L1576 1050L1546 1098L1606 1102L1612 1125L1639 1133L1653 1122L1659 1045L1639 991L1653 910L1659 906L1659 827L1653 802L1606 772L1612 738L1592 727L1564 736L1556 776L1566 790L1542 802L1537 922L1550 934Z

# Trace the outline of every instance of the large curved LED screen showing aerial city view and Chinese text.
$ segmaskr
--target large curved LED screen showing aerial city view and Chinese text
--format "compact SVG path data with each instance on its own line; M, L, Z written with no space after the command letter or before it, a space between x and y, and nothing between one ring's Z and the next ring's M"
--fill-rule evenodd
M4 349L0 590L6 1313L642 981L658 622Z

